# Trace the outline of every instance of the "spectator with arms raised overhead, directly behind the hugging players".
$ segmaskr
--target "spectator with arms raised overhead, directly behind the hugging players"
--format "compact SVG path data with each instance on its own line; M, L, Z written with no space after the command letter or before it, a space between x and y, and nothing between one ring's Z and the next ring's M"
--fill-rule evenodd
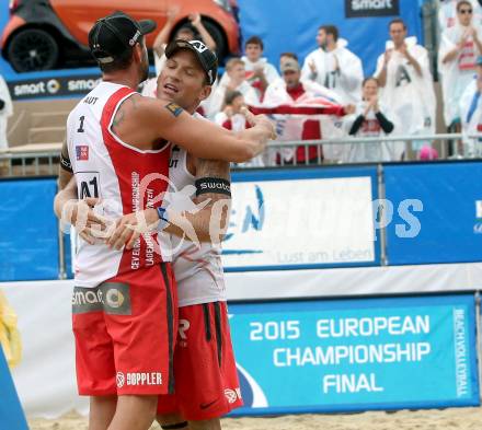
M175 18L177 16L179 11L179 7L172 7L168 10L168 20L162 30L156 36L154 43L152 45L152 53L154 56L156 66L156 78L146 81L146 84L142 88L142 95L156 97L157 77L165 65L164 49L168 46L168 43L171 42L169 36L173 30ZM192 13L188 19L190 24L183 24L175 32L172 40L202 40L210 50L216 51L216 42L206 30L206 27L203 25L200 14Z

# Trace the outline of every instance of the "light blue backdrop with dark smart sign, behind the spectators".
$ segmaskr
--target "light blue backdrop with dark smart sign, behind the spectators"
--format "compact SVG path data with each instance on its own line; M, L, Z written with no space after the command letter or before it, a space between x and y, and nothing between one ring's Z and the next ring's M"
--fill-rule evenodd
M264 42L264 55L276 67L282 53L305 57L318 48L315 36L320 25L336 25L347 48L363 62L365 75L371 75L377 58L385 53L389 22L401 16L409 36L423 45L422 16L418 0L360 1L312 0L250 1L238 0L242 38L256 35ZM354 18L352 18L354 16Z

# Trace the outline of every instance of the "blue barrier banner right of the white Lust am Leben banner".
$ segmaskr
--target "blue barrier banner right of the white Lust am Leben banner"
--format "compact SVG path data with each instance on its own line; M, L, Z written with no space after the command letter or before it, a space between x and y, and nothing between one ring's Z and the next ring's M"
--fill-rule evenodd
M482 163L388 165L383 172L389 265L482 260Z

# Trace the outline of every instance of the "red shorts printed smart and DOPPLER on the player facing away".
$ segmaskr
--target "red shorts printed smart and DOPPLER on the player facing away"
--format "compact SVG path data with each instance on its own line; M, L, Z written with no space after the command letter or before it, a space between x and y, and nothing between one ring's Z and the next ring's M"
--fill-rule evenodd
M72 314L79 394L174 392L177 293L169 263L76 287Z

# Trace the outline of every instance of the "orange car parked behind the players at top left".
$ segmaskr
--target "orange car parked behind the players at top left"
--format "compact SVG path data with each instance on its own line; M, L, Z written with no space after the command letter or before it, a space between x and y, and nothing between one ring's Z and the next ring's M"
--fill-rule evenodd
M219 56L239 53L239 26L229 0L11 0L1 53L18 72L79 67L92 62L88 34L95 20L122 10L136 20L154 20L160 30L171 8L179 9L172 34L198 12ZM148 47L156 35L147 36Z

